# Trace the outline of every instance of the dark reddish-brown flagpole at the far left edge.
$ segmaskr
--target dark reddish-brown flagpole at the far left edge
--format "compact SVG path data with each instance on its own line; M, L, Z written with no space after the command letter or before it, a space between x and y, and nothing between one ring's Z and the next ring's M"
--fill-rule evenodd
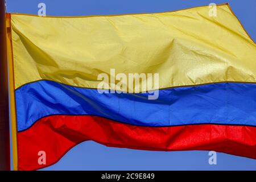
M0 0L0 170L10 170L10 130L5 0Z

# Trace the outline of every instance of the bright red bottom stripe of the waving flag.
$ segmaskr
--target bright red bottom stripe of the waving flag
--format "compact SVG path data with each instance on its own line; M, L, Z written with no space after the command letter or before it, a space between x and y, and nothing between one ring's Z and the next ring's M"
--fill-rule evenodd
M50 166L85 140L142 150L214 150L256 159L256 127L144 127L89 115L52 115L18 133L18 169L34 170ZM46 152L46 165L38 164L39 151Z

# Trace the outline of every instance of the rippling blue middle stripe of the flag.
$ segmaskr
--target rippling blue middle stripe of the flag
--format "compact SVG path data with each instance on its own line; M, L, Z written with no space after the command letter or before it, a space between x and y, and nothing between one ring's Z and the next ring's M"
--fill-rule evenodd
M215 83L147 93L100 94L53 81L38 81L15 91L18 131L53 114L98 115L140 126L200 123L256 126L256 84Z

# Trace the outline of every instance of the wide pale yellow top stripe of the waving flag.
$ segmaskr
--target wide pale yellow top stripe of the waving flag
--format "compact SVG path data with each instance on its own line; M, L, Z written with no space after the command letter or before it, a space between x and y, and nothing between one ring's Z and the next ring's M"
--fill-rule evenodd
M256 46L228 5L116 16L11 16L15 89L52 80L97 88L100 73L159 73L159 87L256 82ZM143 86L142 86L143 88Z

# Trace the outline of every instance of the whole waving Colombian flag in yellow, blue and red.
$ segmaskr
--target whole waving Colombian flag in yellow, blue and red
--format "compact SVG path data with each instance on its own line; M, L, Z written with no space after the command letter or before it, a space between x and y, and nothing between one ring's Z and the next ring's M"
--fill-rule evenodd
M228 4L209 11L9 14L14 169L54 164L86 140L256 159L256 46ZM118 93L115 80L111 93L98 92L98 75L112 79L112 69L157 73L158 98L148 99L146 82Z

